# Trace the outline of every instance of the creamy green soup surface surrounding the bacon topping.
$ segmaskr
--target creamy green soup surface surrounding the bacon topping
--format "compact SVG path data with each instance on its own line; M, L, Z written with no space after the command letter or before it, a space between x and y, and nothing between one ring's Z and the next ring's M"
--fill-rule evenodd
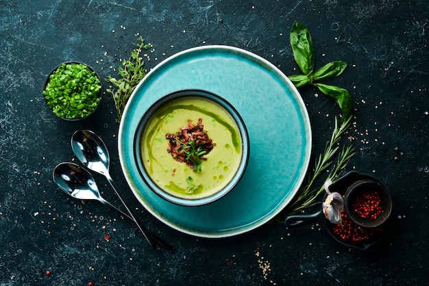
M171 157L165 136L177 133L188 120L196 125L199 118L216 146L204 155L207 160L202 161L201 172L194 172ZM240 131L229 112L214 101L187 96L154 113L143 131L140 151L146 172L160 189L178 198L198 199L219 192L230 182L241 163L242 145Z

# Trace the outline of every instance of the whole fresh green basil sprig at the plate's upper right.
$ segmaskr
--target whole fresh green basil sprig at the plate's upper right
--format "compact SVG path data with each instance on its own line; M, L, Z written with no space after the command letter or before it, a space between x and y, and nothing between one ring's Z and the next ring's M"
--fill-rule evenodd
M306 26L295 22L292 25L290 39L293 57L295 57L295 62L297 62L304 75L291 75L289 79L296 88L301 88L310 84L319 88L323 94L335 99L343 112L342 120L347 119L350 114L352 114L352 96L350 96L350 93L344 88L319 82L341 75L347 67L347 64L342 61L334 61L314 71L315 49L312 44L310 31L308 31Z

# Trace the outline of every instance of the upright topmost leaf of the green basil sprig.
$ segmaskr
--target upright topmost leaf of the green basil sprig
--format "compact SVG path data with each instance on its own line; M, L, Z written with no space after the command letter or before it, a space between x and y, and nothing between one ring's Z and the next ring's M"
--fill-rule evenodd
M304 75L310 75L315 68L315 50L310 31L306 26L295 22L291 28L290 40L295 62Z

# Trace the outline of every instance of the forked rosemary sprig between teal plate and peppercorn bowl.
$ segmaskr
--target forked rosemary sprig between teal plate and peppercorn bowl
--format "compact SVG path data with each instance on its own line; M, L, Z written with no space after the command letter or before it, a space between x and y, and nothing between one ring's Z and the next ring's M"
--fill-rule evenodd
M330 142L326 143L323 154L319 155L319 157L316 159L315 170L310 176L308 185L302 189L297 198L293 200L293 203L291 203L291 205L289 205L289 207L286 209L287 214L297 213L306 207L312 207L319 203L317 198L324 192L323 185L319 188L319 190L312 188L312 185L315 183L319 175L327 170L328 167L332 164L332 157L334 157L337 151L339 151L339 141L341 140L341 135L347 130L348 127L350 127L351 119L352 116L349 116L347 119L343 120L339 126L338 120L335 118L335 127L332 131ZM332 171L328 174L328 177L325 181L334 181L334 179L336 179L336 177L338 177L339 174L345 169L345 166L347 166L354 154L355 151L352 146L347 146L347 148L343 146L341 152L339 153L336 166L332 168Z

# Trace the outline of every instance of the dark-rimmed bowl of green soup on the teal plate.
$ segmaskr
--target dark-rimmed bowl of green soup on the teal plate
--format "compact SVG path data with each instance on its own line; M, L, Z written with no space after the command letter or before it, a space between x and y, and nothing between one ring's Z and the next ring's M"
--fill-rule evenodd
M203 135L214 144L208 151L199 143ZM234 188L249 160L249 135L223 97L179 90L145 112L134 148L147 186L171 203L191 207L219 200Z

